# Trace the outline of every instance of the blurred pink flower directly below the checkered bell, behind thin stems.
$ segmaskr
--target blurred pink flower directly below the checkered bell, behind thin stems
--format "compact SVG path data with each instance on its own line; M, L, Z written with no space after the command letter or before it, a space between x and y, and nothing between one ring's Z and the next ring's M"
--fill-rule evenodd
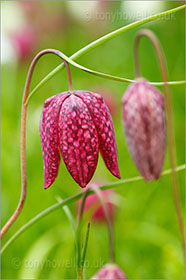
M94 184L94 186L98 187L98 185L96 185L96 184ZM110 216L111 220L113 220L115 210L116 210L116 205L113 203L112 198L115 197L116 194L113 190L109 189L109 190L102 191L102 195L103 195L104 201L106 203L106 206L108 208L109 216ZM80 210L81 202L82 202L82 199L79 200L78 211ZM100 204L99 198L96 194L91 194L86 198L84 212L87 212L87 211L90 211L91 219L95 222L103 222L106 220L104 210L103 210L103 208Z

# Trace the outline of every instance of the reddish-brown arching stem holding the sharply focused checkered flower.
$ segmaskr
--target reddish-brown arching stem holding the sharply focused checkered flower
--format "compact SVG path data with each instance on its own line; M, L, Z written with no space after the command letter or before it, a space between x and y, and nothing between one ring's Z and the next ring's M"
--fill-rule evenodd
M27 175L26 175L26 118L27 118L27 108L28 108L28 103L26 103L26 100L28 98L28 93L30 89L30 84L31 84L31 79L33 75L33 71L35 68L35 65L37 61L42 57L44 54L55 54L62 58L62 60L65 63L66 69L67 69L67 75L68 75L68 81L69 81L69 89L70 91L73 91L72 87L72 80L71 80L71 75L70 75L70 69L68 63L64 60L63 54L61 54L58 50L53 50L53 49L46 49L41 52L39 52L33 59L26 83L25 83L25 89L23 93L23 100L22 100L22 112L21 112L21 145L20 145L20 150L21 150L21 196L20 196L20 201L17 206L17 209L15 210L14 214L11 216L11 218L8 220L8 222L4 225L4 227L1 230L1 239L6 233L6 231L11 227L11 225L15 222L19 214L21 213L23 209L23 205L26 199L26 192L27 192Z

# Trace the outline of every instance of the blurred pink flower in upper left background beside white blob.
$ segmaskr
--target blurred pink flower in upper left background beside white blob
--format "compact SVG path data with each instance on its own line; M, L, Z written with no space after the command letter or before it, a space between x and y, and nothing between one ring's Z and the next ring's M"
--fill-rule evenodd
M25 60L34 53L37 36L32 26L15 31L11 34L11 39L20 60Z

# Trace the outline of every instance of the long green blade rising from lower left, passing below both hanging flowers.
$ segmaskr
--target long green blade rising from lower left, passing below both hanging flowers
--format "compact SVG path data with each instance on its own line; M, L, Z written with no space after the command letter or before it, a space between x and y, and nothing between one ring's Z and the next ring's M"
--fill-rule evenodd
M176 168L176 171L179 172L179 171L182 171L184 169L185 169L185 164L178 166ZM168 170L164 171L162 173L162 175L168 175L171 172L172 172L172 170L168 169ZM137 176L137 177L134 177L134 178L120 180L120 181L111 183L109 185L101 186L100 189L101 190L106 190L106 189L116 188L118 186L121 186L122 184L130 183L130 182L135 182L135 181L140 181L140 180L143 180L143 178L140 177L140 176ZM91 193L93 193L93 191L90 191L89 195ZM46 208L45 210L43 210L42 212L40 212L38 215L36 215L34 218L32 218L30 221L28 221L26 224L24 224L20 229L18 229L18 231L16 231L16 233L14 233L14 235L2 247L1 253L3 253L13 241L15 241L25 230L29 229L36 222L38 222L39 220L41 220L42 218L44 218L48 214L52 213L53 211L59 209L60 207L63 207L64 205L68 205L68 204L70 204L70 203L72 203L74 201L77 201L82 196L83 196L83 193L81 192L79 194L76 194L74 196L71 196L71 197L63 200L62 202L53 204L52 206L50 206L50 207Z

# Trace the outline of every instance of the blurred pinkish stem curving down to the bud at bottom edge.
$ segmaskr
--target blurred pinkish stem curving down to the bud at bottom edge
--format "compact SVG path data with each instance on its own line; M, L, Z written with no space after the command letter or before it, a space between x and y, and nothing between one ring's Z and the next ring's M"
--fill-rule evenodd
M102 192L100 191L99 188L97 188L96 186L91 186L91 189L96 193L101 206L103 208L104 214L105 214L105 218L107 221L107 227L108 227L108 234L109 234L109 246L110 246L110 263L114 263L114 230L113 230L113 224L109 215L109 211L108 211L108 207L105 203L105 199L102 195Z

